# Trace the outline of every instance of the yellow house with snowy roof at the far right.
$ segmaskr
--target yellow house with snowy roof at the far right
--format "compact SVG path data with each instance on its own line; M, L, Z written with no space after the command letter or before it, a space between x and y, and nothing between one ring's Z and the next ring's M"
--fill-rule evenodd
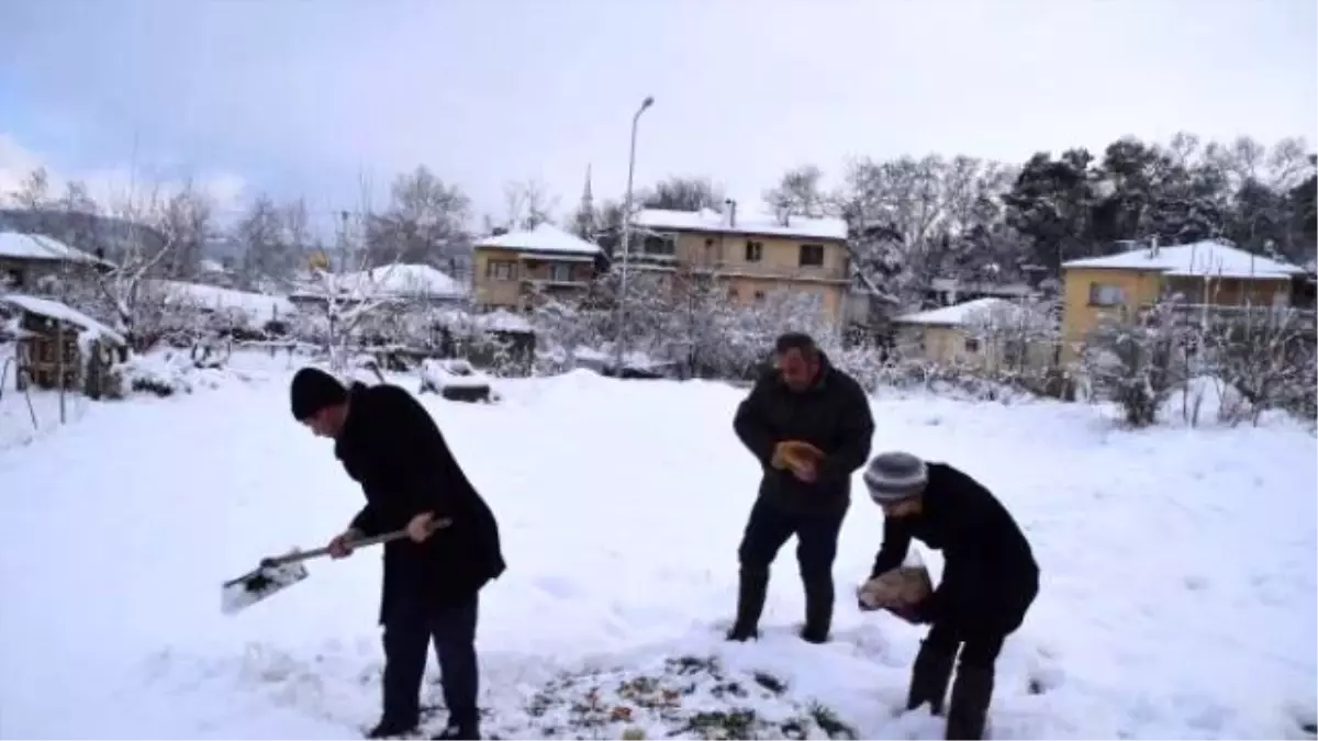
M1193 310L1290 306L1304 268L1219 241L1151 247L1062 264L1062 361L1079 357L1104 316L1133 318L1178 298Z

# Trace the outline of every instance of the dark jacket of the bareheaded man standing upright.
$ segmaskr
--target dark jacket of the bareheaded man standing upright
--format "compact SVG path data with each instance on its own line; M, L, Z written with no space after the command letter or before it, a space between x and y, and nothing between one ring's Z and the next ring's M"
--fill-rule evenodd
M793 392L771 370L760 376L733 418L737 436L764 469L759 496L784 512L845 510L851 501L851 473L870 458L870 401L854 378L820 355L822 365L813 386ZM805 440L824 451L813 483L771 465L774 446L783 440Z

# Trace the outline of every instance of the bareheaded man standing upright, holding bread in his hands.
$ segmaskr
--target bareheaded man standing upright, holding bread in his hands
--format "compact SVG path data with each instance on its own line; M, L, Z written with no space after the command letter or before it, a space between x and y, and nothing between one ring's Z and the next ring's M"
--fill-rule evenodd
M805 587L801 638L822 643L833 621L833 560L851 473L870 455L874 418L861 385L829 364L808 335L778 338L774 360L733 419L763 477L738 548L741 588L728 639L758 636L770 566L795 535Z

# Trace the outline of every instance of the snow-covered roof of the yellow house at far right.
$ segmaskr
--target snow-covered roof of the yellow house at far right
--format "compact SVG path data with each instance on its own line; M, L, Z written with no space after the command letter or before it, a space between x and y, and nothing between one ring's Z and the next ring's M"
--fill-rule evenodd
M1062 268L1152 270L1166 276L1205 278L1277 280L1305 274L1305 269L1298 265L1261 257L1213 240L1156 249L1132 249L1106 257L1085 257L1062 262Z

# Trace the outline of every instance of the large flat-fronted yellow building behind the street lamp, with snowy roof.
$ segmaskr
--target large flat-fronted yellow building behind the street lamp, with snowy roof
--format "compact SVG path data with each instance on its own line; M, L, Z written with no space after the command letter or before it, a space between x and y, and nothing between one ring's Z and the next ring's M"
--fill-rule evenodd
M841 219L646 208L633 219L634 264L705 273L735 303L753 306L775 291L816 297L833 322L844 312L849 280Z

